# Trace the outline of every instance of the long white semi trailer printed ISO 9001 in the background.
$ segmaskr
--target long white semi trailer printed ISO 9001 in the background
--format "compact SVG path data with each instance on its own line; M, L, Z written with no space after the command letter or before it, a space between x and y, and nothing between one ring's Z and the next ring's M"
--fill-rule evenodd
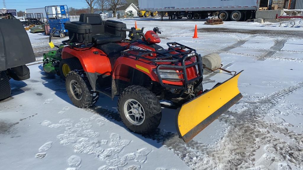
M204 19L218 13L223 21L244 21L255 17L260 7L268 7L269 0L139 0L140 11L158 11L171 19L187 17Z

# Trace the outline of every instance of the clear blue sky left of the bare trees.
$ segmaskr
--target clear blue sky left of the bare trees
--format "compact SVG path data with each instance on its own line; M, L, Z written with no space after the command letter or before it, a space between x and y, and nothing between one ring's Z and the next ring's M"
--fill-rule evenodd
M67 5L73 8L87 8L85 0L5 0L6 9L16 9L24 11L28 8L44 8L50 5ZM3 8L2 0L0 0L0 9Z

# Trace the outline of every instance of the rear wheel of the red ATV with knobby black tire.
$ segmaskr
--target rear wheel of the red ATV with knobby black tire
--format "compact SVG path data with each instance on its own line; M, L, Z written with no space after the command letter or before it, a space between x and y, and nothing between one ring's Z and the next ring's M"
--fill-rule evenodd
M81 97L79 95L77 96L73 92L77 91L76 89L73 89L74 83L78 86L78 89L81 89ZM94 105L99 99L99 92L92 91L92 86L89 83L88 78L86 77L86 74L83 70L70 71L66 76L65 86L69 98L77 107L90 107Z

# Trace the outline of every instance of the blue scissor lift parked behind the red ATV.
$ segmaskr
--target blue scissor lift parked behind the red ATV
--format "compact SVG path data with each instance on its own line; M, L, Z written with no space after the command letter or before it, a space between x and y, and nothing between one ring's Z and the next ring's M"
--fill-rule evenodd
M45 12L50 34L55 31L54 36L65 37L68 31L64 28L64 24L70 21L67 5L45 6Z

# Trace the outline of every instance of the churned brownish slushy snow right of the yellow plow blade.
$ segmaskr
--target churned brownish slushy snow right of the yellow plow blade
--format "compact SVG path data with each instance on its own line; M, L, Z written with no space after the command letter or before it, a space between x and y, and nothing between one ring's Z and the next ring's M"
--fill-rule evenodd
M220 144L210 148L206 152L207 156L200 160L202 163L198 163L194 169L302 167L302 134L292 132L281 124L263 120L286 96L301 88L303 82L262 97L258 104L246 104L248 108L243 112L227 112L220 116L219 120L231 124L231 128ZM271 133L286 136L292 142L287 143ZM255 160L253 156L258 149L264 149L265 154Z

